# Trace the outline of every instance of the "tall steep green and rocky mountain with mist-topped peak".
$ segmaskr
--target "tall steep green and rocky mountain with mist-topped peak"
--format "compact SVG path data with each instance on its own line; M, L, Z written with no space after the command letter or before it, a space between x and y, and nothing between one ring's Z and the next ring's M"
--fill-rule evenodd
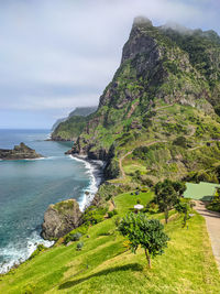
M189 32L135 19L121 65L72 153L106 160L108 178L132 177L131 163L153 181L215 170L220 154L215 112L219 36Z

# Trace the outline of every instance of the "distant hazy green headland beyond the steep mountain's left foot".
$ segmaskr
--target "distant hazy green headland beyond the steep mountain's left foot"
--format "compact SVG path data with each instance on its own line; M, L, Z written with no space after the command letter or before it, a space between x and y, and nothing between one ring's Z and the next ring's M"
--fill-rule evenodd
M97 110L97 107L77 107L66 119L58 120L53 126L52 140L74 141L82 132L89 116Z

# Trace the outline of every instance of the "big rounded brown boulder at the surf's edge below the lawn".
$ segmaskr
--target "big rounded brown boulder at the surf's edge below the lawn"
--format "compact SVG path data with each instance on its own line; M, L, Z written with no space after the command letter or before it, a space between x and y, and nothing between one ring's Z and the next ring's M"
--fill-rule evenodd
M81 215L75 199L50 205L44 214L41 236L47 240L65 236L81 225Z

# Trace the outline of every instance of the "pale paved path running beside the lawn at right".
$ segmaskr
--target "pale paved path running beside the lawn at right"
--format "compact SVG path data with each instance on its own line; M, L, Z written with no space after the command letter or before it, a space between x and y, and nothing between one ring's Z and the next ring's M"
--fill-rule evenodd
M206 219L212 252L220 271L220 214L207 210L202 202L197 200L195 203L195 209Z

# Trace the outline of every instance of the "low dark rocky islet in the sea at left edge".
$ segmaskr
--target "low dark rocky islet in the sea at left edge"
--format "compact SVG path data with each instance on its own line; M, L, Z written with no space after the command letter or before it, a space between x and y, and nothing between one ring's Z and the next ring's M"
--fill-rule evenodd
M26 160L43 157L35 150L26 146L24 143L15 145L14 149L0 149L0 160Z

